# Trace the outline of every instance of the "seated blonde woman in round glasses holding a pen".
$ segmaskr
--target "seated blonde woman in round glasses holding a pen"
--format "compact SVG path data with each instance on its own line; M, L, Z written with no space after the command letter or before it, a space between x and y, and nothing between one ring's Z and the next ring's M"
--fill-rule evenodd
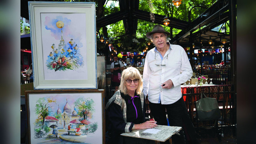
M152 143L145 139L123 137L123 132L156 127L156 121L146 121L143 80L139 70L129 67L122 72L119 89L108 100L109 143ZM147 118L148 120L148 118Z

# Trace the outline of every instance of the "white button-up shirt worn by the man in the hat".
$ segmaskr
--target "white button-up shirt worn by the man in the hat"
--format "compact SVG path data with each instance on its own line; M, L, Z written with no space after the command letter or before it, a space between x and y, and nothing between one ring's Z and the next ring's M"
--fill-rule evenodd
M182 97L180 84L188 81L192 74L193 70L187 53L180 45L170 44L163 59L155 47L148 51L146 56L143 70L143 93L145 96L148 94L148 100L151 103L158 103L160 95L161 104L172 104ZM172 80L172 88L163 89L160 85L169 79Z

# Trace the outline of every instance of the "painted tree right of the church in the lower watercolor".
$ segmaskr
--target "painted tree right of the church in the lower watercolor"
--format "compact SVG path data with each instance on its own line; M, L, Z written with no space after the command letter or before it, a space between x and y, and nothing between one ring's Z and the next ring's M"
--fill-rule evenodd
M78 108L78 115L87 120L87 118L92 118L92 113L95 111L94 109L94 101L88 98L85 99L83 97L78 98L74 102L76 108Z

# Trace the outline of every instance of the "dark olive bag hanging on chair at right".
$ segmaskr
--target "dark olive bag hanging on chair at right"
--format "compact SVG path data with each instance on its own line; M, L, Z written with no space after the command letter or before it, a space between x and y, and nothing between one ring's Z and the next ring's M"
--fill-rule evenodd
M201 93L201 99L196 101L197 116L200 121L217 120L220 118L220 109L215 98L208 98Z

